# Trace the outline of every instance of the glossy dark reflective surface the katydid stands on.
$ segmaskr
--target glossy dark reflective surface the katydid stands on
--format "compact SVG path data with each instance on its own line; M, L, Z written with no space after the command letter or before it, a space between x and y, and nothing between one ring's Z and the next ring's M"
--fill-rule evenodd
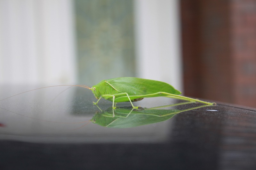
M0 90L4 169L256 168L254 108L155 97L113 109L79 87L25 92L38 87Z

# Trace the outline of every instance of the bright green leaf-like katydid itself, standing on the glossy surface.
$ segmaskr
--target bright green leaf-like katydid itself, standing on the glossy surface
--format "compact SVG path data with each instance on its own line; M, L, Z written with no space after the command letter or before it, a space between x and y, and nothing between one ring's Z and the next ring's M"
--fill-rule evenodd
M92 90L96 99L105 99L113 101L113 108L115 102L131 102L133 108L138 108L133 106L133 101L139 101L143 98L149 97L170 97L180 100L195 101L208 105L213 105L214 103L205 102L202 100L192 99L185 96L180 96L181 92L174 89L171 85L143 78L133 78L133 77L120 77L111 78L107 80L102 80L97 85L89 88ZM98 104L99 100L94 104Z

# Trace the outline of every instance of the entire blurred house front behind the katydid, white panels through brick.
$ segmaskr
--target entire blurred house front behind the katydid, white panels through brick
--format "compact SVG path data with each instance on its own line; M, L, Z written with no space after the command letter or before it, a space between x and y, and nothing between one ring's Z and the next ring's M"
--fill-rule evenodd
M0 0L0 84L116 77L256 107L256 1Z

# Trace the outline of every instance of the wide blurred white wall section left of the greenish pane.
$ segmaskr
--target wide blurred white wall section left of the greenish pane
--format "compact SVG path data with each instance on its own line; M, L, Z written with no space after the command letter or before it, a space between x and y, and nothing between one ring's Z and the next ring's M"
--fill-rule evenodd
M76 80L70 0L0 0L0 83Z

